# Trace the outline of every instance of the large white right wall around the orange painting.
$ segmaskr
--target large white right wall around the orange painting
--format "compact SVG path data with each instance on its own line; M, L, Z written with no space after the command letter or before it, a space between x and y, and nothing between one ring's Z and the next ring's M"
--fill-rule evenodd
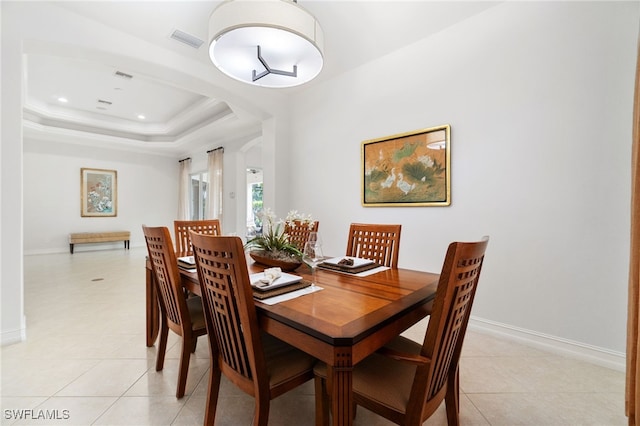
M299 95L290 208L325 252L401 223L400 267L491 236L473 315L622 354L639 3L509 2ZM360 205L367 139L451 125L452 205Z

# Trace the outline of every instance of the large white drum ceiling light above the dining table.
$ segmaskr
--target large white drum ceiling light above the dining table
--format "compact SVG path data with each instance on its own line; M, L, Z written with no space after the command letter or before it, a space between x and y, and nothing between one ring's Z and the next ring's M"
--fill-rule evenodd
M209 17L209 56L223 73L263 87L314 79L324 35L313 15L291 0L227 0Z

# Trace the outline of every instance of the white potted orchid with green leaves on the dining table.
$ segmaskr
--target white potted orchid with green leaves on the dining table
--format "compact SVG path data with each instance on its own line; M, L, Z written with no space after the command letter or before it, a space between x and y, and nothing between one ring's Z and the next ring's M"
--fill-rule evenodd
M276 219L270 208L260 213L262 220L262 234L251 238L245 244L249 255L256 262L279 266L282 270L293 270L302 263L302 252L293 244L289 235L285 232L287 227L313 226L311 215L304 215L297 210L292 210L287 217Z

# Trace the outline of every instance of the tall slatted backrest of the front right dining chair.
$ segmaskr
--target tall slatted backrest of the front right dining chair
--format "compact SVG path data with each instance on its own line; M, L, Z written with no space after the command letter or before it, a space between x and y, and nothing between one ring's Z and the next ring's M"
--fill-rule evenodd
M417 400L407 405L408 411L415 411L407 412L408 417L420 418L425 401L440 398L447 381L455 377L488 243L484 237L449 245L421 351L431 362L417 369L411 396Z

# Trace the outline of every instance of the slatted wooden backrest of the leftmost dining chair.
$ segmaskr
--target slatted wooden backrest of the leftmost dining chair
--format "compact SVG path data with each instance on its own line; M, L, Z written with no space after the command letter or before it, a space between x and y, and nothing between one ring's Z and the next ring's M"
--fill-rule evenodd
M160 308L174 331L191 328L191 318L184 299L178 261L167 227L142 225L149 260L157 284ZM182 333L180 333L182 335Z

